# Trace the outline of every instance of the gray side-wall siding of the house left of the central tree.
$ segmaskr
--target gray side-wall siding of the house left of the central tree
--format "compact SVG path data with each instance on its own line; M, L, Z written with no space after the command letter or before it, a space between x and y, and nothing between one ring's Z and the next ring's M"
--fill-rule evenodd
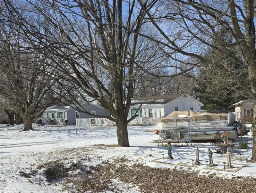
M82 107L85 110L87 110L89 113L91 113L91 111L95 111L96 115L102 115L102 116L110 115L105 109L98 107L96 105L93 105L93 104L85 103L82 105ZM69 124L75 124L75 122L76 122L75 111L77 111L77 110L73 109L73 108L67 109L67 120L68 120ZM79 113L79 118L93 118L93 116L90 116L86 113Z

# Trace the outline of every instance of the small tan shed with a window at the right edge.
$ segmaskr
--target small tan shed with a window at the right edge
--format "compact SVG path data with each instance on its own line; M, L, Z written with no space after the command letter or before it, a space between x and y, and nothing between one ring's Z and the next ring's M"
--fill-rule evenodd
M236 120L245 120L245 123L253 122L253 100L247 99L233 104L235 107Z

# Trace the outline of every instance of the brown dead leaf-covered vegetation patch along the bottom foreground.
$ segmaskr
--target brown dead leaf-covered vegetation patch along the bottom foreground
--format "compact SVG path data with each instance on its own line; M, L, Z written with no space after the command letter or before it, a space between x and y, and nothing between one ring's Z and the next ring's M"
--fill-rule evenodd
M256 181L252 178L219 179L211 174L198 176L197 172L177 169L151 168L141 164L128 166L124 161L91 167L82 180L73 181L78 191L100 192L112 186L111 179L138 185L141 192L193 192L193 193L237 193L256 192ZM70 181L69 181L70 182Z

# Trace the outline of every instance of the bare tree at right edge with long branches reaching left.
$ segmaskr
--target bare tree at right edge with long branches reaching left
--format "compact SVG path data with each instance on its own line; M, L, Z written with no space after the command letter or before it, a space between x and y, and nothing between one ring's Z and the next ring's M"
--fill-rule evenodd
M166 0L154 12L148 11L141 0L139 2L143 10L147 12L152 25L158 29L163 38L161 41L157 40L158 44L165 45L166 49L171 50L169 52L178 52L186 57L194 58L198 67L205 69L218 67L229 74L237 84L243 87L247 96L254 100L251 160L256 161L254 1ZM161 23L158 22L159 20ZM175 30L167 31L163 28L163 23L166 26L170 25L170 22ZM231 35L231 41L219 36L222 30ZM148 38L152 39L152 37ZM205 48L211 49L212 57L206 58L201 54ZM224 60L216 59L214 57L216 53ZM241 79L239 76L241 69L248 72L248 79Z

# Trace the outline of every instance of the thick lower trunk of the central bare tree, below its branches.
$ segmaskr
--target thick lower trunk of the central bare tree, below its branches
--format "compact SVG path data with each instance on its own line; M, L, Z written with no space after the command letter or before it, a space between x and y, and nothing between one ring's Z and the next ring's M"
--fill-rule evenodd
M121 147L130 147L127 131L127 120L122 116L115 118L115 120L118 145Z

